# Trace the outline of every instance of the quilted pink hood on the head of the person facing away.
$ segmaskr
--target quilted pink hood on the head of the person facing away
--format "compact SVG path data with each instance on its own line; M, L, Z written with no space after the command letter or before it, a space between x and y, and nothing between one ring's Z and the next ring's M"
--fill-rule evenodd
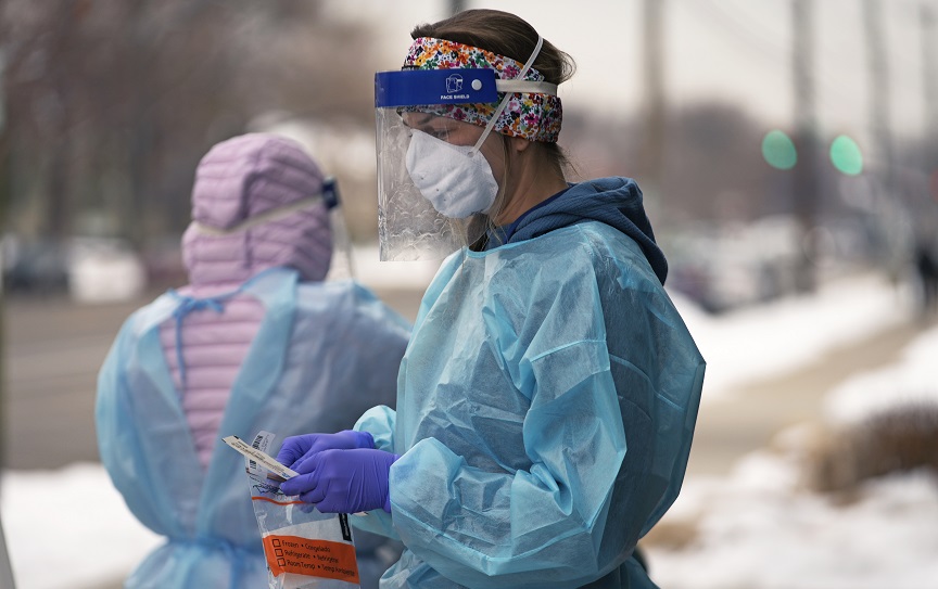
M212 148L195 170L193 222L182 236L190 282L243 282L278 266L299 270L302 280L322 280L332 258L324 203L237 229L258 215L320 194L322 181L319 166L303 148L276 135L249 133Z

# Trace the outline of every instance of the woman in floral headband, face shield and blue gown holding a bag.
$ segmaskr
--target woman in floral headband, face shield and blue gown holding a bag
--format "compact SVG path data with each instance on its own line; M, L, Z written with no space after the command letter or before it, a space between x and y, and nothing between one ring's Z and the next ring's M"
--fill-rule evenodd
M642 192L565 180L572 64L528 23L469 10L411 37L376 79L383 253L465 245L423 296L396 412L286 439L281 490L401 538L382 588L655 587L634 549L680 490L705 362Z

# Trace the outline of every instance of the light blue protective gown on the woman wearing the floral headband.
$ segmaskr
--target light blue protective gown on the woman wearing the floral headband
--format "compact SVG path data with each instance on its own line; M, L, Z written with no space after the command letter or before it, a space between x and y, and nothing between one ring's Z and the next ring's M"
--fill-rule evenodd
M444 263L397 411L356 424L402 454L391 514L352 518L406 546L382 588L654 587L632 552L680 490L705 362L643 249L581 217Z

